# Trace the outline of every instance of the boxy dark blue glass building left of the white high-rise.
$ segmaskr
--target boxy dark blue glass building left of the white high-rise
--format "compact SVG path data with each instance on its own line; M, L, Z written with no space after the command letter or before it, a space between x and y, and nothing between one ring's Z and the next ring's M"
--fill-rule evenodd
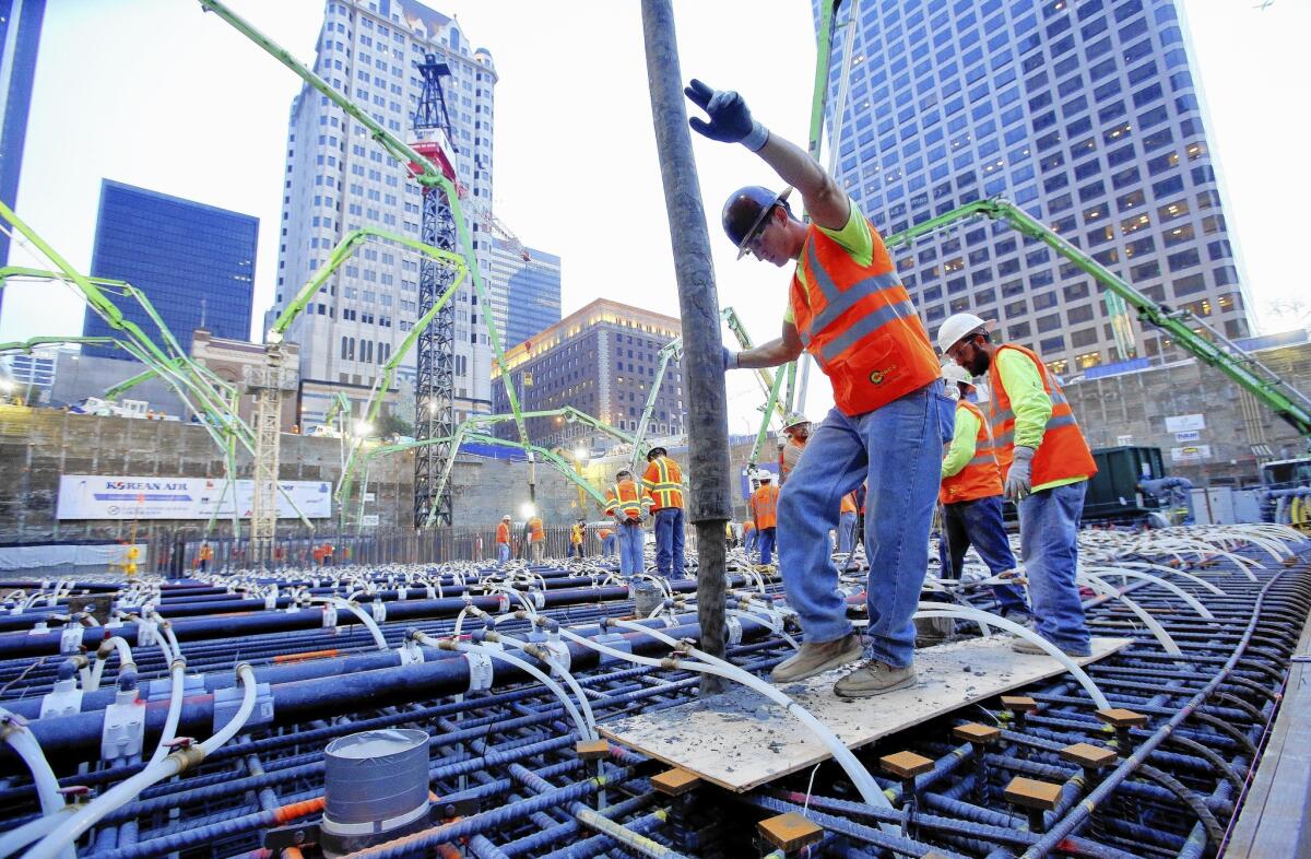
M126 281L144 292L182 351L191 332L250 338L250 298L260 219L180 197L104 180L90 274ZM123 316L155 337L155 323L128 298L115 298ZM87 337L114 330L87 308ZM84 346L108 358L128 355L113 346Z

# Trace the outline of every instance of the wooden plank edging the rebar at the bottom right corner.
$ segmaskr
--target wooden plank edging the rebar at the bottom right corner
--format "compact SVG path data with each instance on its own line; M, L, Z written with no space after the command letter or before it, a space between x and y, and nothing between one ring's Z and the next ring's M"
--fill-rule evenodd
M1226 859L1311 855L1311 618Z

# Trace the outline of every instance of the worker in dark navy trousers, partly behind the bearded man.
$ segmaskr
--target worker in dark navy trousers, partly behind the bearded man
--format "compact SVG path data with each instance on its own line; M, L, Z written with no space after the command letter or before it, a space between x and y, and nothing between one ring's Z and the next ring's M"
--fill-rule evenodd
M979 407L969 400L974 380L954 362L943 367L948 392L958 392L956 434L943 458L943 538L937 542L943 578L960 580L970 546L994 576L1015 572L1015 555L1002 522L1002 472L992 450L992 434ZM992 588L1002 616L1028 623L1029 603L1015 585Z

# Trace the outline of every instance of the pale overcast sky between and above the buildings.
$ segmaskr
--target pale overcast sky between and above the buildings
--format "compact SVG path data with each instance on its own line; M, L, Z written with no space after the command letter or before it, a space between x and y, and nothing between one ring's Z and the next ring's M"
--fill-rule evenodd
M871 1L871 0L864 0ZM231 0L307 63L321 0ZM435 0L492 51L497 85L494 207L524 244L562 257L565 313L599 296L678 315L637 0ZM1302 148L1311 1L1185 0L1207 131L1248 286L1265 330L1277 299L1311 294L1295 207L1311 201ZM746 96L772 130L804 143L814 64L805 0L675 3L683 76ZM271 303L287 110L299 79L193 0L51 0L24 155L18 214L81 270L90 265L102 177L257 215L256 311ZM777 334L788 273L734 262L724 198L773 184L738 146L697 139L721 304L754 337ZM22 249L14 265L30 265ZM80 299L59 286L5 290L0 340L77 334ZM254 332L252 332L254 333ZM728 340L728 333L725 332ZM810 408L831 403L818 375ZM754 431L759 390L729 386L730 428Z

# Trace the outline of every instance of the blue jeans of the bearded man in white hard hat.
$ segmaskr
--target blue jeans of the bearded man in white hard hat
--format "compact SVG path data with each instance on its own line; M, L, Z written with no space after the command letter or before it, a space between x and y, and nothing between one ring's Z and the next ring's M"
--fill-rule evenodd
M1029 577L1036 627L1066 650L1086 653L1091 636L1079 586L1079 518L1088 481L1034 492L1020 502L1020 559Z

